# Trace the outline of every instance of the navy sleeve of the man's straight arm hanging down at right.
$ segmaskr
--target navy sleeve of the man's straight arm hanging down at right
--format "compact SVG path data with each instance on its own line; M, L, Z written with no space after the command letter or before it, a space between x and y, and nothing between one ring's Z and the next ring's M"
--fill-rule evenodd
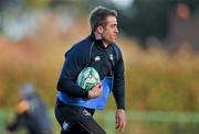
M118 48L118 47L117 47ZM122 53L118 48L118 57L116 62L115 72L114 72L114 86L113 94L117 104L117 109L125 110L125 78L124 78L124 62Z

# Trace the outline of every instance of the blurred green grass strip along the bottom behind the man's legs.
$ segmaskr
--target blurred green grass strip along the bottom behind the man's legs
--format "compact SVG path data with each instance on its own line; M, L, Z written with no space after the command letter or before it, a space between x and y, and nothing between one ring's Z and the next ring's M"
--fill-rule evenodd
M60 133L53 110L50 115L54 122L55 134ZM198 113L175 113L175 112L127 112L127 125L125 134L198 134ZM13 118L12 110L0 111L0 133L4 134L6 122ZM118 134L115 130L114 111L97 111L95 116L100 125L107 134ZM15 134L24 134L20 129Z

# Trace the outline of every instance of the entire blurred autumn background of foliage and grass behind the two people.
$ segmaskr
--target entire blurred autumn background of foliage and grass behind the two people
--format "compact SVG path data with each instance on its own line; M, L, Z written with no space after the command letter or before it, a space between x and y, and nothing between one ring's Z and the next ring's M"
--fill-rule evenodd
M124 55L125 134L199 133L198 0L1 0L0 133L12 119L19 86L32 82L53 108L64 53L87 36L96 5L117 10ZM115 103L95 119L116 134ZM19 132L20 134L23 132Z

